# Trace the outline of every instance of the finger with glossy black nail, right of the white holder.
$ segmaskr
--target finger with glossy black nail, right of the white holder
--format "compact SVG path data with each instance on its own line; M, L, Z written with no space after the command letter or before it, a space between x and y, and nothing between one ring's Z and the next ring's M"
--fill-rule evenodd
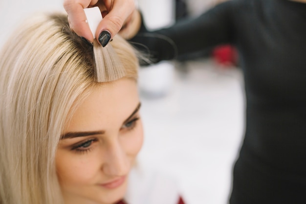
M105 46L109 40L121 29L123 23L135 9L134 0L104 0L108 14L98 25L96 36L101 45Z

